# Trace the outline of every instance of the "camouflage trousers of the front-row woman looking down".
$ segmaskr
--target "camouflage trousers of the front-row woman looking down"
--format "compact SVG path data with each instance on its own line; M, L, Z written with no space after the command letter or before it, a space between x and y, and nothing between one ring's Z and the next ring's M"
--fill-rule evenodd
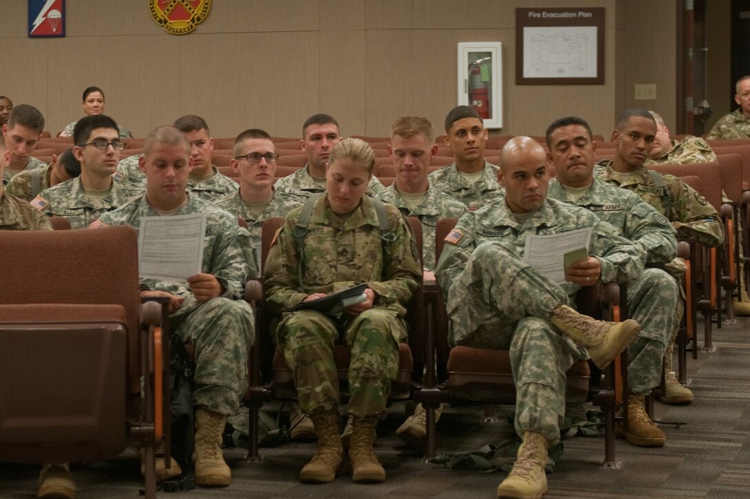
M278 331L304 413L329 413L338 407L334 350L341 332L351 347L349 413L386 416L391 382L398 374L398 342L407 338L395 311L372 308L341 321L317 311L297 311L286 314Z

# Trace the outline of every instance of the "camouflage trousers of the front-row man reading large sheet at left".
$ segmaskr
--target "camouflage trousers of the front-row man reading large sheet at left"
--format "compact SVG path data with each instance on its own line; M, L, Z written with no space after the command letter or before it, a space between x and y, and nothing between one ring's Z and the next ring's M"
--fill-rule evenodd
M250 305L222 297L199 302L189 296L169 316L169 324L195 347L193 405L235 413L248 389L248 350L255 339Z

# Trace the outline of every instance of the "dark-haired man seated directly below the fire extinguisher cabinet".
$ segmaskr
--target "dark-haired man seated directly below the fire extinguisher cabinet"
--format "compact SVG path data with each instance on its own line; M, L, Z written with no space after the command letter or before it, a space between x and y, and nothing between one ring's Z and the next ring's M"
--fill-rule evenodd
M477 209L502 197L497 166L484 161L487 129L473 107L454 107L446 116L446 144L455 162L430 174L430 184L455 197L468 209Z

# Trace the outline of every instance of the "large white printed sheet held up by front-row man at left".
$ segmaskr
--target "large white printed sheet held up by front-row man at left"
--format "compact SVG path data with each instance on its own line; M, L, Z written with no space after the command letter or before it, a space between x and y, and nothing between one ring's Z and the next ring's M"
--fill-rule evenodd
M138 269L141 278L187 281L201 272L205 213L141 218Z

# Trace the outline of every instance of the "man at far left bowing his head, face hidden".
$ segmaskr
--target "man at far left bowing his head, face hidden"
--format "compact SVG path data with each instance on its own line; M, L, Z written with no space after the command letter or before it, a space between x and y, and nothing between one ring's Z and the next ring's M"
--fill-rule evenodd
M59 158L52 155L52 161L44 167L23 170L7 183L7 191L24 201L31 201L44 189L75 179L81 174L81 162L73 155L73 149L65 149Z

